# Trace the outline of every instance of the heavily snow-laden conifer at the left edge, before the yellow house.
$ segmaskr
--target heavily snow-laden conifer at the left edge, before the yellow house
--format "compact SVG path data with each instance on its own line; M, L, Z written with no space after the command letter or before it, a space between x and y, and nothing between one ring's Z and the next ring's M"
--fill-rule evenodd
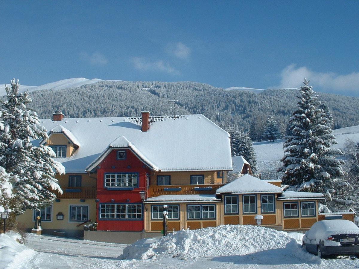
M19 93L19 81L7 87L7 100L0 108L0 166L13 175L11 206L16 214L25 209L41 208L55 199L53 191L62 193L55 173L65 173L60 162L54 161L50 147L34 146L31 140L47 139L36 112L27 108L28 93Z

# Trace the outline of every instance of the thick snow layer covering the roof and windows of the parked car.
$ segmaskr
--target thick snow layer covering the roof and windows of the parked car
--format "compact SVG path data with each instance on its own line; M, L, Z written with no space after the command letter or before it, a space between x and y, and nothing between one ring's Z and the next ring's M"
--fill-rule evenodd
M341 233L359 234L359 228L352 221L348 220L323 220L313 224L312 228L306 232L308 239L325 240L330 235Z

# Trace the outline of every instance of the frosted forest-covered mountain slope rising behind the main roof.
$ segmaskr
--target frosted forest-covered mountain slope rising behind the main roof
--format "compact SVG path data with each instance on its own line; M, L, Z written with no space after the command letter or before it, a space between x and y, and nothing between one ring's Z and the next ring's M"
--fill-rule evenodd
M51 118L55 110L65 117L138 116L141 110L150 110L151 115L202 113L220 126L231 124L246 131L253 122L265 124L270 112L284 130L298 94L293 89L258 94L225 91L198 82L101 81L78 88L34 91L31 96L32 108L41 118ZM359 98L318 95L331 108L335 128L359 125ZM178 101L173 105L171 100Z

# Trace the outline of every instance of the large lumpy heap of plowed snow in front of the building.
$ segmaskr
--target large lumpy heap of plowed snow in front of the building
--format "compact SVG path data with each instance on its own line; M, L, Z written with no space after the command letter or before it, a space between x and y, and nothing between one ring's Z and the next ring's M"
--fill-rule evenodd
M171 255L180 259L245 255L284 248L295 240L288 233L251 225L221 225L199 230L181 230L155 241L143 239L126 247L121 259L151 259Z

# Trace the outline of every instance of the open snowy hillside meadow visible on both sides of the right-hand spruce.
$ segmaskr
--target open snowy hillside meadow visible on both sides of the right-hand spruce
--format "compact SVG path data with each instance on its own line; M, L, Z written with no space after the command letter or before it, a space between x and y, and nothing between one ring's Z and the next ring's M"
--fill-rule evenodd
M336 129L334 135L338 144L334 145L333 148L344 148L348 140L359 142L359 126ZM281 175L276 173L276 169L282 164L280 161L283 157L282 140L254 142L253 147L257 155L258 168L259 172L262 173L262 179L280 178Z

